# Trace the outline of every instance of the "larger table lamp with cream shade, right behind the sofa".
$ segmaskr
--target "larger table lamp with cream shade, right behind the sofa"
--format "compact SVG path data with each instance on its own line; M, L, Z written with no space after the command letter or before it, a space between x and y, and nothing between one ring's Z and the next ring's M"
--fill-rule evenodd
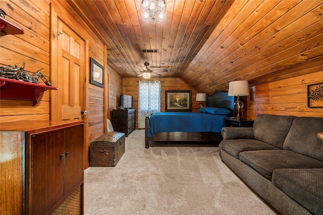
M228 96L237 96L237 101L234 102L234 115L236 119L241 119L241 112L243 111L244 104L239 99L239 96L249 96L248 81L234 81L229 83Z

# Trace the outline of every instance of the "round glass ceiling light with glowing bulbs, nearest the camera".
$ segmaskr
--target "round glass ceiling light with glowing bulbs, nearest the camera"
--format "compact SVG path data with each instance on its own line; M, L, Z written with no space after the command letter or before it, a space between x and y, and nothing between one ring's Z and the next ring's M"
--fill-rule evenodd
M147 23L163 22L167 16L165 0L142 0L140 16Z

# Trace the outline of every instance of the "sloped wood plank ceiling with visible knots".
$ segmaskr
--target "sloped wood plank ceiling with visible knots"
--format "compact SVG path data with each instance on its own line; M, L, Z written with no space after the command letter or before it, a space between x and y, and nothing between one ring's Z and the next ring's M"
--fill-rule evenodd
M159 24L140 19L141 0L67 2L123 77L138 76L148 62L211 94L235 80L258 85L323 70L322 1L166 0Z

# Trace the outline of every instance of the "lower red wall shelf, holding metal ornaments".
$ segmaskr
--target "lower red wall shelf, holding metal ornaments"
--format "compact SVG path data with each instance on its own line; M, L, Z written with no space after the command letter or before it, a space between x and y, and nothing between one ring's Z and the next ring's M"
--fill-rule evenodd
M0 77L1 99L33 101L33 105L35 106L38 103L38 98L47 89L57 90L57 87L22 82L14 79L6 79Z

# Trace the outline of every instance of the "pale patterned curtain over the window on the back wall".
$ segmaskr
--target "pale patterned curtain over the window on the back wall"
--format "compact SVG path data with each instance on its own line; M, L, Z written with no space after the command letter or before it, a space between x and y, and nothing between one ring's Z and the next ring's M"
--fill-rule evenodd
M138 128L145 128L146 116L160 112L160 81L139 81Z

